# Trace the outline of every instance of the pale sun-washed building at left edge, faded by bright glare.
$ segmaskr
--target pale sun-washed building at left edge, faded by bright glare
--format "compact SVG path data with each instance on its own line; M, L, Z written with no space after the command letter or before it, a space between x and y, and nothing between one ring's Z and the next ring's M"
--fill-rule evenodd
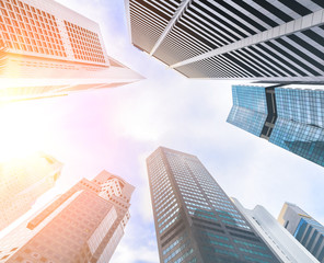
M0 163L0 230L28 211L51 188L62 164L45 153Z

